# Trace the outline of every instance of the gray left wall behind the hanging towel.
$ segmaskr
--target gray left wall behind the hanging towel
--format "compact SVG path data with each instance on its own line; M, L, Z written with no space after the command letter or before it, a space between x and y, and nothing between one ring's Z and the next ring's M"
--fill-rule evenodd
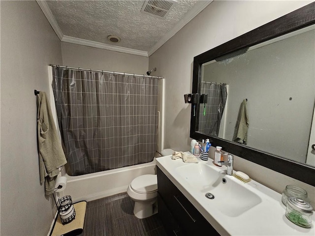
M54 214L39 183L34 89L49 91L61 45L36 1L0 1L0 17L1 235L43 236Z

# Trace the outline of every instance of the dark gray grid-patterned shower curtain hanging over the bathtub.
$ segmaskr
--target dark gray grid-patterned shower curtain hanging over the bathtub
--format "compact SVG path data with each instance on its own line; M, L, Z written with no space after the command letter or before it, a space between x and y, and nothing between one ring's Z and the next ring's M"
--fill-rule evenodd
M53 67L52 86L71 175L153 160L158 79Z

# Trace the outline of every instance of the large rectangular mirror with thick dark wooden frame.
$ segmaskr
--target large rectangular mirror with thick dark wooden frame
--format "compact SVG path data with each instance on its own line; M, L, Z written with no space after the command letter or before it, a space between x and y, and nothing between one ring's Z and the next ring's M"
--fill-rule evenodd
M311 3L196 56L192 92L208 103L190 137L315 186L314 22Z

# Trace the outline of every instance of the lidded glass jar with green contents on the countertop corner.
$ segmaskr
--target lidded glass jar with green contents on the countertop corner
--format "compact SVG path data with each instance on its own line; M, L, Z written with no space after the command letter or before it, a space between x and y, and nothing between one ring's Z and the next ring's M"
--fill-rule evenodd
M285 216L294 224L310 228L312 226L313 207L301 198L289 197L286 203Z

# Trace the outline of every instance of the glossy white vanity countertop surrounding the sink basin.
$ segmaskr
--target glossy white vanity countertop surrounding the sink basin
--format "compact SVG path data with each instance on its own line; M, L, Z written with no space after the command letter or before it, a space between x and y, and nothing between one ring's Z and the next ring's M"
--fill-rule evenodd
M195 191L193 187L177 172L176 168L185 165L197 165L195 163L184 163L183 160L172 160L171 155L158 157L157 166L185 195L185 197L196 207L208 222L218 231L220 235L273 235L273 236L315 236L315 214L311 228L302 228L289 221L284 213L285 206L281 202L282 195L274 190L251 180L244 186L258 195L261 202L238 216L227 216L213 207L215 202L207 199L204 194ZM217 167L213 160L203 161L198 158L199 163L205 163L216 168L218 171L226 170L226 167ZM224 176L228 181L240 181L232 176ZM230 180L229 180L230 179ZM277 181L275 179L275 181Z

